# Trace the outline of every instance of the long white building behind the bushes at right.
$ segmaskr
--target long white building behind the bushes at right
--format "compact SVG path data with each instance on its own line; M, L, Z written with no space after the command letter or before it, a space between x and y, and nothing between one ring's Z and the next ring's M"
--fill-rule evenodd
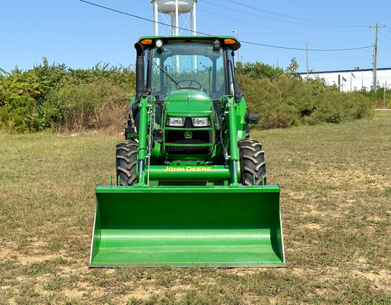
M307 73L300 73L303 79ZM371 90L373 70L354 68L354 70L308 72L308 78L323 78L327 85L337 85L341 91ZM391 68L377 69L378 88L391 88Z

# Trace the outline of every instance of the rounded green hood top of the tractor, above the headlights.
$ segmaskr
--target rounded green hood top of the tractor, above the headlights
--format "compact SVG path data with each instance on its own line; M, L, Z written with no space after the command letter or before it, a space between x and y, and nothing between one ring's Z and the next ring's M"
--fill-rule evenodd
M200 90L176 90L167 96L164 108L169 115L187 116L194 112L205 114L212 111L212 100Z

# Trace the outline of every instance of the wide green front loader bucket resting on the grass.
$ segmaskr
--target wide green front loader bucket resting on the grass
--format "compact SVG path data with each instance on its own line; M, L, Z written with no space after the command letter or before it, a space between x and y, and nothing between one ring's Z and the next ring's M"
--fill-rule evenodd
M284 266L279 186L97 186L90 267Z

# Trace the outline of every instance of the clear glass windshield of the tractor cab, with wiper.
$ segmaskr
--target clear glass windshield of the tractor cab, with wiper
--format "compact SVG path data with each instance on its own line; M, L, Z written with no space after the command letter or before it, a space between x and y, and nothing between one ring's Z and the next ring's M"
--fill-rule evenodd
M223 49L211 44L171 42L150 50L150 90L164 100L174 90L202 90L212 100L224 95ZM152 66L151 66L152 65Z

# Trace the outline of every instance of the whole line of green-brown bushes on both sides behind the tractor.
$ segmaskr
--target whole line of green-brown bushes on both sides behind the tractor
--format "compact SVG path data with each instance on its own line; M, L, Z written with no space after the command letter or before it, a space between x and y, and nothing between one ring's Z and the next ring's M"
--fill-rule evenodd
M259 62L236 63L236 79L248 111L260 114L255 128L370 118L375 103L383 105L383 95L380 101L373 92L339 92L322 79L303 80L298 67L295 59L286 69ZM74 69L49 64L44 58L26 71L0 68L0 128L16 132L121 130L135 82L133 68L108 64Z

